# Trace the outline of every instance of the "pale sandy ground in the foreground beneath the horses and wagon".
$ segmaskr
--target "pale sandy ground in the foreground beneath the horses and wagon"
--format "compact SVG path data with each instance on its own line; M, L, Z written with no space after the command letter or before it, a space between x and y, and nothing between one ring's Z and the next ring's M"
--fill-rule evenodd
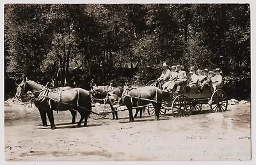
M102 111L104 106L93 107ZM209 109L209 107L205 107ZM109 111L109 106L105 111ZM43 127L36 107L4 103L6 161L190 161L250 160L250 104L228 106L225 113L186 118L161 115L119 120L88 119L88 127L72 125L69 111L54 112L56 130ZM77 115L77 122L80 116ZM49 120L47 120L49 124Z

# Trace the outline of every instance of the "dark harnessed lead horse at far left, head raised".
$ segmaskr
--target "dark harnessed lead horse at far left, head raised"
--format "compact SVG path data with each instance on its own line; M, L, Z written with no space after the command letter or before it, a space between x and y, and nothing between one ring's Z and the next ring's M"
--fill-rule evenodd
M18 86L16 97L19 98L22 94L27 91L34 93L36 100L34 101L35 106L38 107L42 122L44 126L47 126L46 114L51 123L51 129L56 129L54 124L53 110L55 111L67 111L74 109L81 114L81 119L77 125L81 125L83 119L85 120L84 126L87 124L87 118L92 111L92 102L90 93L81 88L70 88L66 90L49 90L44 86L24 79ZM75 123L74 114L76 111L70 110L72 113L72 123Z

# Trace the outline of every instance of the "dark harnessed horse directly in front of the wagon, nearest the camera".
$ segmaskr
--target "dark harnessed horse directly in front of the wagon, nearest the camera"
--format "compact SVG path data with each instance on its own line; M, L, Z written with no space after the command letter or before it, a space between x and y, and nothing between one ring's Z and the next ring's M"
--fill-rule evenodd
M156 112L156 120L159 120L159 113L162 105L162 91L156 86L145 86L130 88L124 86L124 91L120 99L120 105L125 105L129 111L129 122L134 122L132 107L136 108L136 113L142 111L142 107L152 103Z

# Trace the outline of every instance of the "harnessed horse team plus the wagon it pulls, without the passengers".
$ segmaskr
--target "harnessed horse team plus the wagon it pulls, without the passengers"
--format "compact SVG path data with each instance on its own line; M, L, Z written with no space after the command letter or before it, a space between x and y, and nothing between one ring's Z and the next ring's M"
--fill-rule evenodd
M90 113L97 114L100 118L104 118L107 114L112 113L113 118L117 118L118 111L129 111L129 121L134 121L132 115L132 109L136 109L137 116L138 111L141 112L144 107L148 107L148 114L156 114L156 120L159 120L159 114L165 114L167 111L172 111L173 117L189 116L193 111L201 111L203 104L208 104L211 107L212 113L227 111L228 100L225 91L218 89L213 93L209 88L205 88L204 91L198 91L195 88L187 89L186 86L178 86L177 90L173 93L161 91L156 86L143 86L143 87L131 87L119 86L113 90L109 90L104 98L104 103L109 101L111 111L102 113L95 113L92 111L92 100L90 92L81 88L56 88L47 89L40 84L36 84L34 81L24 79L22 83L18 85L17 97L21 94L31 91L36 98L36 107L40 111L42 122L44 126L47 126L46 113L49 117L51 128L55 129L54 118L52 111L65 111L70 110L72 113L72 123L75 123L74 118L76 113L74 110L81 114L81 119L77 125L81 125L84 121L86 126L87 118ZM42 98L42 99L41 99ZM126 106L127 109L117 110L113 108L113 100L120 105ZM154 109L153 109L154 107Z

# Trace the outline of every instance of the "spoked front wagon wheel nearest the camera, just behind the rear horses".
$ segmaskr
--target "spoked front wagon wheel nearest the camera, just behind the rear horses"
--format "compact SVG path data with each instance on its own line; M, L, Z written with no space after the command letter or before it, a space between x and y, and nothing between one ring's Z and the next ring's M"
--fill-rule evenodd
M172 102L172 116L173 117L181 117L181 116L189 116L191 101L185 95L177 96Z

